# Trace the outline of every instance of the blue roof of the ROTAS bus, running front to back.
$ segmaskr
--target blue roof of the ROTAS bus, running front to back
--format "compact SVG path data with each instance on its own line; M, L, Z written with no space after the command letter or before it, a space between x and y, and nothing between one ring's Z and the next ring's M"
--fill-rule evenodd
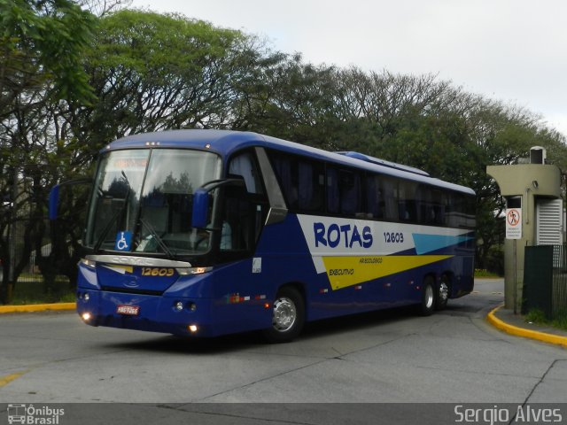
M208 150L229 157L232 152L252 146L276 149L291 154L306 155L344 166L351 166L371 172L421 182L443 189L455 190L474 195L474 190L458 184L444 182L431 177L423 170L404 166L384 159L369 157L358 152L329 152L305 144L293 143L269 135L233 130L167 130L155 133L128 135L110 143L104 151L137 149L145 147L192 148Z

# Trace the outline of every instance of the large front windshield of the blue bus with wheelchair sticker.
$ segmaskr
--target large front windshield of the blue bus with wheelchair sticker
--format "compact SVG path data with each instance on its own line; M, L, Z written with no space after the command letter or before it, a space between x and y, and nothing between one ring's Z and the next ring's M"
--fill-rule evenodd
M212 232L191 227L192 194L220 176L221 158L211 152L106 153L95 177L85 245L169 256L209 251Z

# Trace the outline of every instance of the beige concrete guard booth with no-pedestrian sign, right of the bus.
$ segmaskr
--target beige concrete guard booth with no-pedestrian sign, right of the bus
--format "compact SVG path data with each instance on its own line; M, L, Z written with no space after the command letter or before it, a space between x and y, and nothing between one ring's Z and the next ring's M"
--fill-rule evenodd
M514 313L521 311L524 299L525 247L563 243L561 171L547 164L546 157L545 148L535 146L529 163L486 167L507 202L504 306Z

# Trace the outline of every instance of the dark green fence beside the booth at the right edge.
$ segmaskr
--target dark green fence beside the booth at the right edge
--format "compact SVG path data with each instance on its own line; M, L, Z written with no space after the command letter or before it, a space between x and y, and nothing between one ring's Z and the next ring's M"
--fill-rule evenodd
M526 246L523 313L537 308L548 319L567 312L567 245Z

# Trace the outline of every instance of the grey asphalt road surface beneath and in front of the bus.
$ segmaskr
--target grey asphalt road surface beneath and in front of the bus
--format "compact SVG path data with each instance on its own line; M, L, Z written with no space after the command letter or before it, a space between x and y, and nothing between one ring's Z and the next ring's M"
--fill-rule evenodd
M431 317L400 309L321 321L291 344L264 344L256 334L188 341L91 328L75 313L7 314L0 317L0 403L89 403L66 405L100 416L89 423L110 423L104 412L133 408L93 402L147 403L129 413L141 415L136 423L175 423L189 413L198 423L341 423L358 406L319 403L447 403L435 406L451 414L462 403L567 403L567 351L485 321L502 291L501 280L478 280L473 294ZM278 405L280 417L268 413L274 403L307 405ZM211 406L230 413L201 412ZM376 413L361 406L357 413Z

